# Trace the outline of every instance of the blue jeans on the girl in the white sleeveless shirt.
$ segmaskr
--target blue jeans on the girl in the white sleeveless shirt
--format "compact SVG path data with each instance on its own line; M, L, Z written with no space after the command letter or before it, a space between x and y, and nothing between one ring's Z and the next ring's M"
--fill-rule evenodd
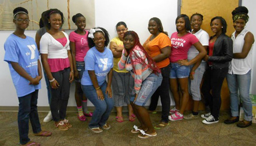
M251 70L245 75L227 74L227 85L230 90L230 108L232 116L239 116L239 97L243 101L244 119L252 121L252 101L249 96L251 85Z

